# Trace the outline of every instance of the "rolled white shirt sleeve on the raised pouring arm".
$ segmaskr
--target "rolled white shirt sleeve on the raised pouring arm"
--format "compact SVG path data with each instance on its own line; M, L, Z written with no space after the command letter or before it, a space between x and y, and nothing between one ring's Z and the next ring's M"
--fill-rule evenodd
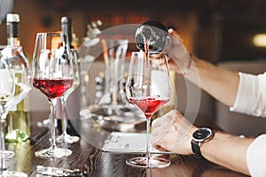
M259 75L239 73L239 88L231 112L266 117L266 72Z

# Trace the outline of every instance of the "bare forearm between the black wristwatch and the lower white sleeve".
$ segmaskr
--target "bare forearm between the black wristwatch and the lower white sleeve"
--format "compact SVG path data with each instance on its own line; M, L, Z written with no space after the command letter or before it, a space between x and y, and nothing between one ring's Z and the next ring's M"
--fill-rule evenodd
M250 175L246 165L246 150L253 141L254 139L216 132L210 141L203 143L200 150L207 160Z

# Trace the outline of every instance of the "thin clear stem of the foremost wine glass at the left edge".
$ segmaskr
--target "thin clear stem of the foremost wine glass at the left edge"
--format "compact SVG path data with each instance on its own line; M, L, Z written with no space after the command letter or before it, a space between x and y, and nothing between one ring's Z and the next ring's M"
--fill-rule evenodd
M5 167L5 157L4 157L4 150L5 150L5 143L4 143L4 124L5 124L5 119L6 119L6 112L3 112L1 115L1 167L0 167L0 172L3 174L4 170L6 170Z

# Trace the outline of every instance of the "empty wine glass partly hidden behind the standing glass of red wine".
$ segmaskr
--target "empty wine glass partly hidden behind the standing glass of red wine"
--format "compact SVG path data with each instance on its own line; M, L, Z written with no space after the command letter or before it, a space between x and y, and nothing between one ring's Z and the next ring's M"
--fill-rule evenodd
M76 50L71 49L70 50L70 56L72 57L71 61L73 62L73 71L74 71L74 77L73 77L73 84L70 89L67 89L66 92L64 92L60 96L61 104L62 104L62 134L56 137L56 142L66 142L66 143L74 143L78 142L80 138L75 135L68 135L66 132L67 127L67 121L66 121L66 101L68 96L71 95L71 93L80 85L80 76L79 76L79 67L78 67L78 57Z

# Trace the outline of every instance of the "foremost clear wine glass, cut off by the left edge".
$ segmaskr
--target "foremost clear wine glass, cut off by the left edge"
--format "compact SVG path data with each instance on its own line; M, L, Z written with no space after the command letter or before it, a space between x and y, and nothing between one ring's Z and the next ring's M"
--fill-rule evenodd
M1 50L2 58L0 61L0 116L1 116L1 165L0 176L27 176L26 173L9 171L5 166L6 150L4 150L4 127L5 119L8 112L13 106L19 104L20 101L27 96L31 89L30 84L30 66L25 60L19 58L16 53L19 52L18 47L6 47ZM15 92L19 89L19 92Z

